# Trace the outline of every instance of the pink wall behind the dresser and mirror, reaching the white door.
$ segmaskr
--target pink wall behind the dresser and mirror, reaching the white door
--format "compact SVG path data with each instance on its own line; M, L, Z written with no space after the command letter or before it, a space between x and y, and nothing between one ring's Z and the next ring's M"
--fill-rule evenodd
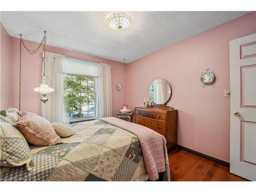
M229 41L256 32L256 12L178 42L127 65L127 103L141 106L150 83L163 78L179 111L178 144L229 162ZM201 88L200 75L216 72L216 86ZM231 93L232 94L232 93Z

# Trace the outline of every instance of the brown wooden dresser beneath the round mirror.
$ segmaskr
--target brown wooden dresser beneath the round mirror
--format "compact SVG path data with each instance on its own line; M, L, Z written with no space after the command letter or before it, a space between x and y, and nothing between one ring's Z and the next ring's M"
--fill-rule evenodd
M176 145L177 110L170 107L136 107L134 122L146 126L166 138L167 149Z

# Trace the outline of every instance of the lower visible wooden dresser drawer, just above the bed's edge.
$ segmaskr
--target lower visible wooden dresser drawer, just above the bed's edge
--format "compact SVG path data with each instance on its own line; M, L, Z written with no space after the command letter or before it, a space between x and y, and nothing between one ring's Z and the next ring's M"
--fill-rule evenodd
M134 122L136 124L146 126L150 129L154 130L155 132L160 133L161 135L165 136L165 122L163 122L163 121L158 121L155 119L147 119L147 118L135 116Z

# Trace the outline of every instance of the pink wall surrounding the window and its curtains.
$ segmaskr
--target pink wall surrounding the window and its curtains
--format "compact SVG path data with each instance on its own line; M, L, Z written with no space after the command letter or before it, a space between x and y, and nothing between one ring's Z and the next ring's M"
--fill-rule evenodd
M32 41L24 40L25 45L33 49L39 44ZM13 106L18 108L18 72L19 72L19 38L11 37L11 47L12 47L12 64L13 64ZM61 49L52 46L46 46L46 50L52 53L58 53L65 55L66 57L86 60L90 62L103 62L111 65L111 75L112 75L112 100L113 100L113 116L119 109L123 108L123 104L126 103L126 64L121 62L112 61L109 59L104 59L100 57L95 57L87 55L84 53L78 53L69 51L66 49ZM29 55L29 53L23 48L23 58L22 58L22 108L21 111L29 111L32 113L40 113L40 95L33 91L35 87L38 87L41 76L41 65L42 65L42 52L36 53L34 55ZM2 78L1 78L2 80ZM121 91L115 89L115 84L121 83ZM2 99L1 99L2 100Z

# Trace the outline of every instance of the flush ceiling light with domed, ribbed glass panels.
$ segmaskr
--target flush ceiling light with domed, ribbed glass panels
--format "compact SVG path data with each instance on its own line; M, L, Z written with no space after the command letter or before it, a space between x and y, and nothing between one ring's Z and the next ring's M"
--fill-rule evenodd
M132 22L132 17L126 13L114 13L108 18L108 25L115 31L124 31Z

